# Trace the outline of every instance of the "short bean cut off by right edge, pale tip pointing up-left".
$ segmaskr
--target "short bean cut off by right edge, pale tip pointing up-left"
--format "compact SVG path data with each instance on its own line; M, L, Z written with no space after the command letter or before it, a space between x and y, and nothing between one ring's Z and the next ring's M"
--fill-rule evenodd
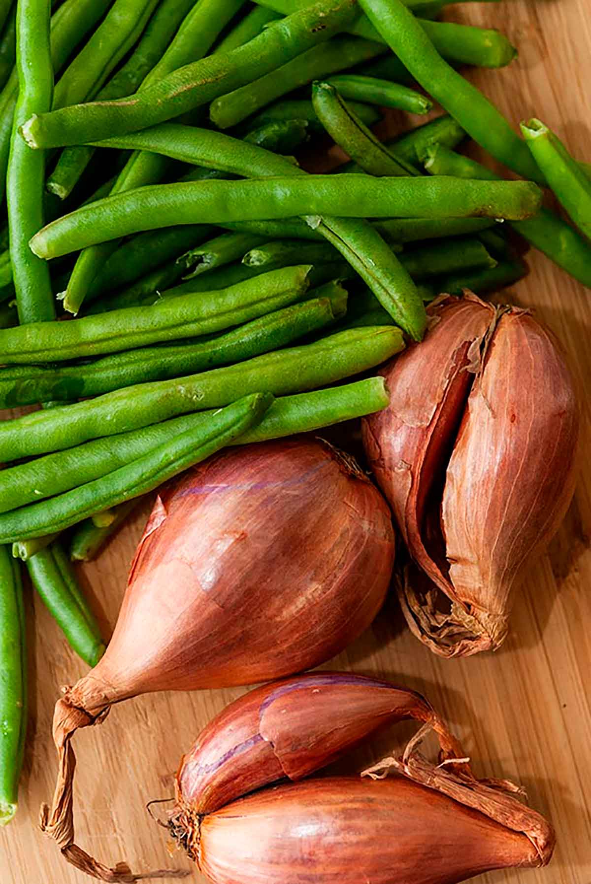
M591 238L591 180L541 120L522 123L521 133L558 202L580 231Z

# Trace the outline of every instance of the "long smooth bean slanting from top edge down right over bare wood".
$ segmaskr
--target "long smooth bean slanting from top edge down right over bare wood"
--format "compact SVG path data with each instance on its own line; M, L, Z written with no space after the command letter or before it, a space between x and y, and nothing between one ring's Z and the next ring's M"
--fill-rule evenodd
M448 65L400 0L360 0L390 49L421 86L492 156L524 178L543 183L526 145L488 98Z

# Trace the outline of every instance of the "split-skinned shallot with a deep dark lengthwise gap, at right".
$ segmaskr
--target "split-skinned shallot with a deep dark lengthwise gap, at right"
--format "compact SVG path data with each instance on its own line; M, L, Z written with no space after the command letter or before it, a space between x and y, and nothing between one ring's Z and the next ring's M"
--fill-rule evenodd
M514 592L564 518L580 404L527 310L466 295L428 313L424 342L384 367L390 405L363 440L413 559L406 621L432 651L465 656L503 643Z

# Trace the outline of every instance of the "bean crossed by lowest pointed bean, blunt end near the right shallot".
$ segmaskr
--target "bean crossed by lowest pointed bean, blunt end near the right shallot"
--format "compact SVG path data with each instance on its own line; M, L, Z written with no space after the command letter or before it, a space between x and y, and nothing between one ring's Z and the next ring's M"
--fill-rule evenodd
M268 416L263 418L263 425L257 431L257 439L318 430L331 423L370 414L387 404L383 380L377 377L329 390L285 396L277 399L269 409ZM37 484L43 484L48 490L48 496L63 494L80 484L107 476L114 469L139 460L159 446L186 433L198 419L207 422L212 414L213 411L204 411L199 415L183 415L140 430L119 433L108 439L95 439L63 452L46 455L34 461ZM249 437L248 440L252 438ZM241 439L239 444L246 444L246 441L246 438ZM77 478L64 480L64 472L71 470L77 471ZM14 476L16 478L17 474ZM13 487L27 488L26 470L20 471L18 481L13 483ZM24 497L22 502L25 506L33 501ZM4 512L9 510L4 509Z

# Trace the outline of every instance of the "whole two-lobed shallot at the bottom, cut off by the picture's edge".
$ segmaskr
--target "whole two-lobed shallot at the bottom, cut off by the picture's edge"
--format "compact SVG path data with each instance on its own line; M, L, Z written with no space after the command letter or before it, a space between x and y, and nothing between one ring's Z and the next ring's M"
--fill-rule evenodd
M301 780L409 718L423 724L403 758L363 779L267 785ZM437 766L418 751L428 730L439 739ZM390 770L399 775L384 778ZM170 832L212 884L455 884L549 862L553 829L516 792L474 777L419 694L316 673L251 691L210 722L181 761Z

